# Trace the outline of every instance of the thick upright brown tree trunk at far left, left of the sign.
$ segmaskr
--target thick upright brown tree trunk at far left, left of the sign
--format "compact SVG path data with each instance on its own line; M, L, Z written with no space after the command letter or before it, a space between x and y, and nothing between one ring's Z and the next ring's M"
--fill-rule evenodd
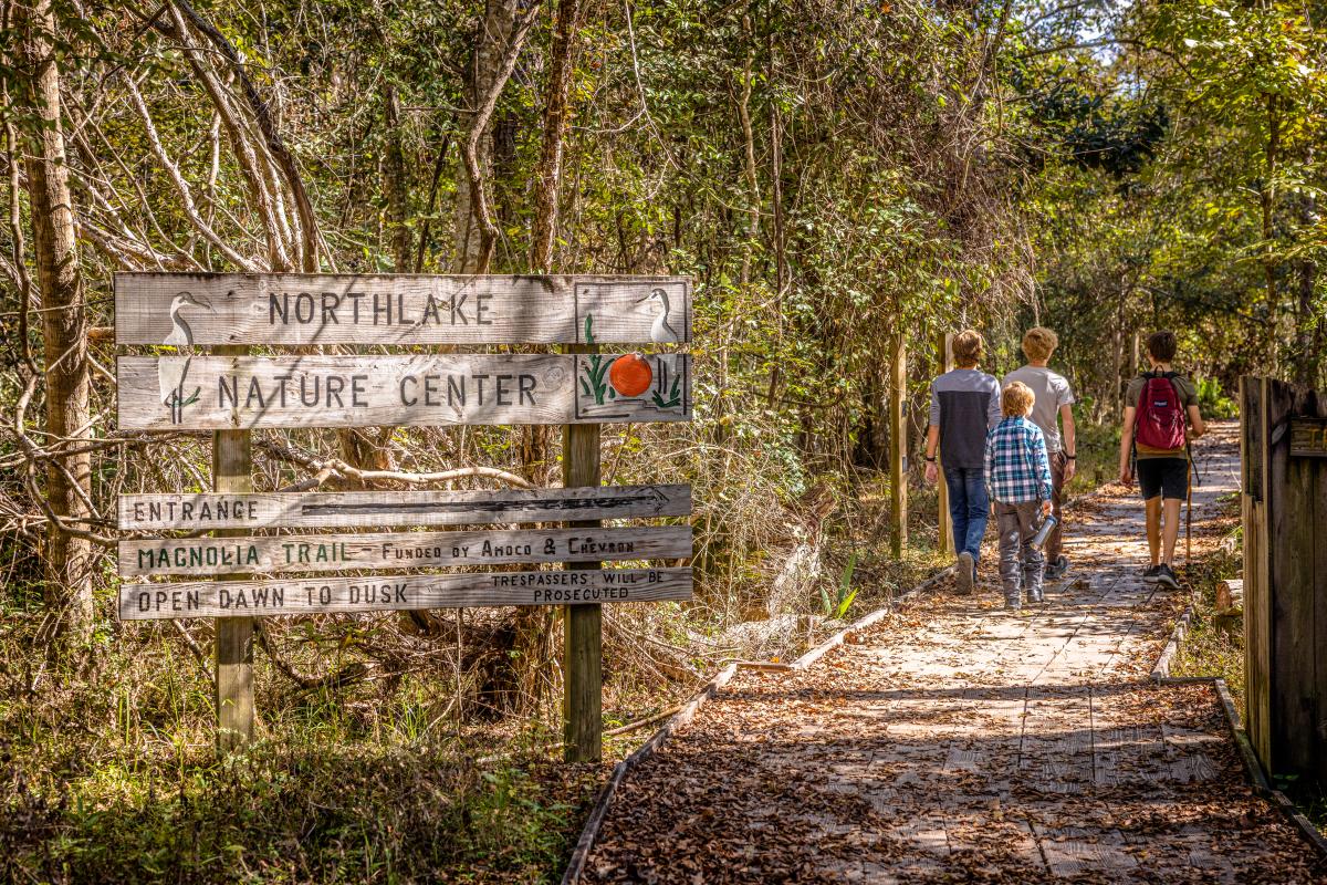
M60 69L49 40L54 27L49 0L38 0L23 21L24 62L33 72L29 100L41 121L41 131L33 137L24 166L41 287L46 433L52 444L58 444L57 441L88 434L92 381L82 275L61 125ZM86 520L85 498L90 496L90 491L89 452L48 462L46 498L57 516ZM50 525L46 535L46 606L60 613L56 632L66 636L69 646L85 642L93 622L92 543Z

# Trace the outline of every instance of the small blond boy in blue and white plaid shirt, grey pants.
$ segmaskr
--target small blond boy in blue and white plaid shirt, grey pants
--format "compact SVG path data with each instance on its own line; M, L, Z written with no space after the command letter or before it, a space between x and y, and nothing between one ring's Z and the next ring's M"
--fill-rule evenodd
M1019 585L1028 602L1042 601L1046 557L1031 545L1042 519L1051 512L1051 464L1046 437L1028 421L1035 397L1020 381L1005 387L1001 411L1005 418L986 434L986 492L995 510L999 535L999 576L1005 608L1018 612ZM1022 563L1019 563L1022 552ZM1022 580L1019 580L1022 579Z

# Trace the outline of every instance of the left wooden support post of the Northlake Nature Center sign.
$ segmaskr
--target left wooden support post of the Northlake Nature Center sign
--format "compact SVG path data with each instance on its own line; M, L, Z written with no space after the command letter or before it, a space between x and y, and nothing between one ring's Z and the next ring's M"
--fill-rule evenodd
M244 356L248 348L219 346L219 356ZM252 434L247 430L212 433L212 491L253 491ZM216 535L244 535L244 529L219 529ZM243 580L243 575L218 580ZM216 618L216 752L224 756L253 739L253 621Z

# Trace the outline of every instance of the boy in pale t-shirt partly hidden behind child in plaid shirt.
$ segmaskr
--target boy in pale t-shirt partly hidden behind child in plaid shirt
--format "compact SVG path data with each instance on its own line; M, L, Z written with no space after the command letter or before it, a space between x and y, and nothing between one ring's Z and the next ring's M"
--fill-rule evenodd
M1060 516L1060 495L1064 484L1074 479L1078 459L1078 438L1074 427L1074 391L1064 375L1051 372L1047 366L1055 348L1060 344L1059 337L1044 326L1028 329L1023 336L1023 356L1027 365L1005 375L1002 387L1019 381L1032 389L1036 402L1032 406L1031 421L1042 429L1046 437L1046 452L1051 463L1051 507L1055 519L1059 521L1046 539L1046 580L1055 581L1064 577L1070 568L1068 559L1060 552L1064 517ZM1064 433L1060 433L1059 423L1063 422Z

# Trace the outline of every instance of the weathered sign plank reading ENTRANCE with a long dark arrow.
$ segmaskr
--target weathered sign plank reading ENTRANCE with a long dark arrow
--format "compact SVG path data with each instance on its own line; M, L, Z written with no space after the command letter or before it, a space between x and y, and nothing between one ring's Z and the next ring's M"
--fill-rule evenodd
M690 513L690 486L119 496L119 528L141 532L491 525Z

